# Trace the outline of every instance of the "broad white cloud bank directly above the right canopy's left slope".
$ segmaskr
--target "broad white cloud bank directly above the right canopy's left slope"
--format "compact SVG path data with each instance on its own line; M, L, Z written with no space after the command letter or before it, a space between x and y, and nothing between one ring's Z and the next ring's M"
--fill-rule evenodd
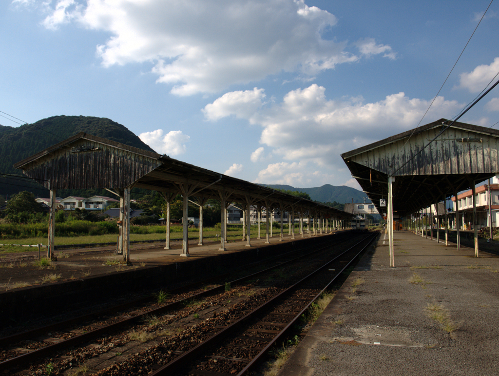
M256 182L318 181L309 172L312 165L330 176L334 174L328 171L345 171L341 153L415 127L429 105L430 101L409 98L403 92L365 103L362 97L328 100L325 88L317 84L289 91L281 103L247 114L250 123L262 126L260 143L286 161L268 165ZM437 97L427 122L451 118L463 105ZM258 148L251 160L258 160L262 152ZM296 161L311 165L300 169Z

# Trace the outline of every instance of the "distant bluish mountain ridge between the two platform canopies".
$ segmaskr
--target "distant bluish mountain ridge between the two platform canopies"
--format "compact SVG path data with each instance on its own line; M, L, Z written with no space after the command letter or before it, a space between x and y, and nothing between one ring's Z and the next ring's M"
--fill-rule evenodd
M347 204L352 202L359 203L364 202L364 197L367 197L366 194L362 191L359 191L355 188L347 187L346 185L341 185L339 187L325 184L322 187L315 188L294 188L290 185L282 185L282 184L262 184L265 187L269 187L272 189L284 189L290 191L298 191L308 193L310 198L314 201L319 202L334 202L336 201L339 204ZM366 202L371 202L370 200L366 200Z

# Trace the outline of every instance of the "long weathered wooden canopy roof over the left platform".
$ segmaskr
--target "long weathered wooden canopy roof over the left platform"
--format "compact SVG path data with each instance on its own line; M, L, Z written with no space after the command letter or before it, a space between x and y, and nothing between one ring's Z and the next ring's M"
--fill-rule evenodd
M293 205L294 210L320 212L325 218L347 219L344 211L236 179L154 152L78 133L14 164L50 190L137 187L164 194L217 199L224 192L232 202L272 207ZM280 205L279 205L280 204Z

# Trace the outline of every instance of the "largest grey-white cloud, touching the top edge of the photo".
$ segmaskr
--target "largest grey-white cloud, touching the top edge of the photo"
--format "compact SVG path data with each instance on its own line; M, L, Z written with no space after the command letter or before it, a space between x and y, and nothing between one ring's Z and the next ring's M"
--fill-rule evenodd
M347 42L323 39L336 25L326 10L303 0L75 0L46 2L43 22L69 21L108 32L97 46L104 66L152 62L158 82L177 95L221 91L268 75L307 78L358 60ZM390 47L384 52L390 53Z

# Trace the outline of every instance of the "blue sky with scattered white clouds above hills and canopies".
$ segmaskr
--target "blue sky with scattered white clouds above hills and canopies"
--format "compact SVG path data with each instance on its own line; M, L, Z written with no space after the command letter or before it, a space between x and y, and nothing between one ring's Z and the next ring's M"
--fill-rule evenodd
M497 81L490 2L5 0L0 124L107 117L253 183L360 189L341 153L451 119ZM459 121L499 128L499 88Z

